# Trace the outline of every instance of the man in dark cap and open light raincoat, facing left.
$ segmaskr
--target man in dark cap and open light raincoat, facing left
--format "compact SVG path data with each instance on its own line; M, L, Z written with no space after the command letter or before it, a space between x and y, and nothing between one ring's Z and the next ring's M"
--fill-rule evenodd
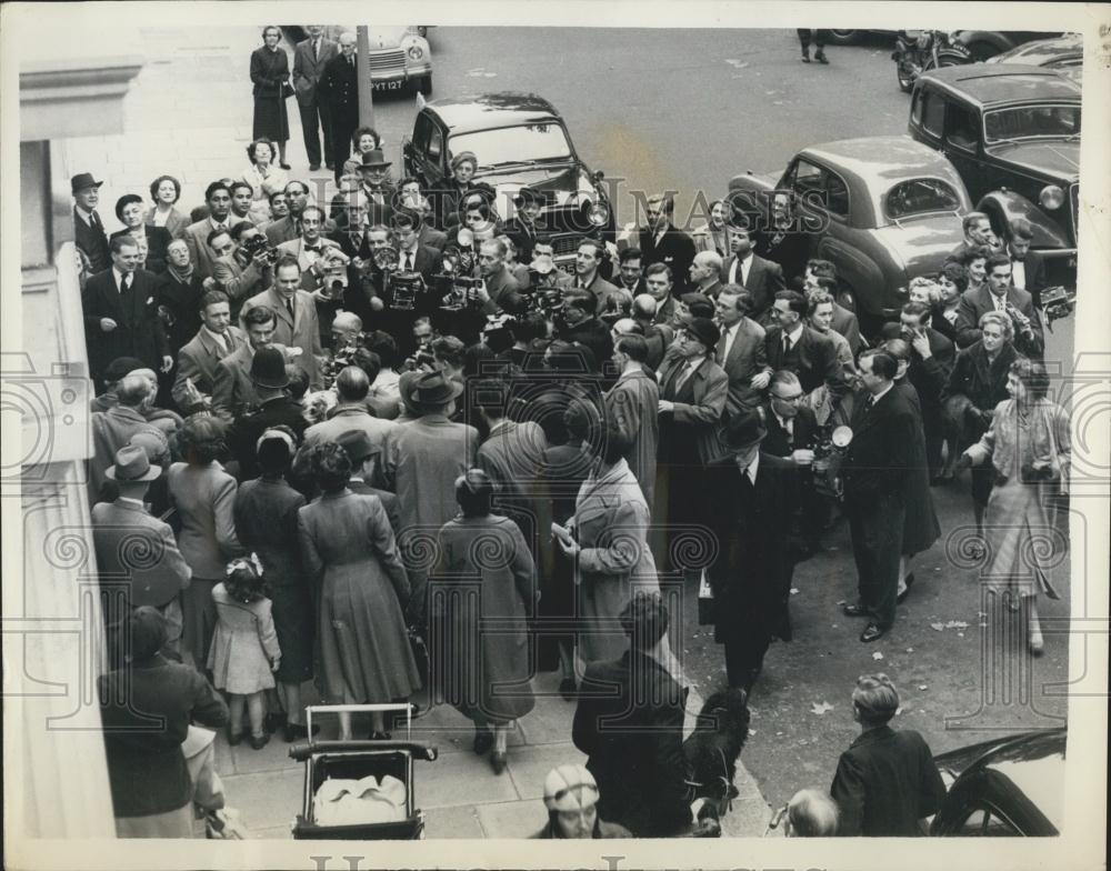
M691 318L675 334L675 351L664 357L660 381L660 441L652 513L660 562L669 569L670 547L661 540L679 525L701 521L707 503L703 469L721 455L718 427L729 396L729 376L713 361L721 334L709 318Z

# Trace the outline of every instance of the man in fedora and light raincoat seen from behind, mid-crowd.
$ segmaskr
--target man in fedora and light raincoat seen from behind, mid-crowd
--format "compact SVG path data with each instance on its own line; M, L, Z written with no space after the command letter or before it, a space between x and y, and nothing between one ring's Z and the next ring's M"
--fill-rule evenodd
M401 504L404 538L434 538L440 528L459 513L456 501L456 479L476 464L479 431L466 423L456 423L451 416L463 392L461 382L443 372L426 372L407 389L406 402L420 416L399 427L387 443L386 483L398 494ZM428 567L410 569L412 580L412 615L421 622L428 587Z

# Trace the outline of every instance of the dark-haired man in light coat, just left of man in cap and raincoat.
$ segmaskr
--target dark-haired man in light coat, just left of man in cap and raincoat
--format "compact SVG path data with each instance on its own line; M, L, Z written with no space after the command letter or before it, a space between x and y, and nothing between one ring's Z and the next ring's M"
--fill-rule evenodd
M613 362L621 374L605 392L605 416L629 440L625 462L637 478L644 500L653 504L655 449L660 439L660 386L644 372L648 342L629 333L617 340Z

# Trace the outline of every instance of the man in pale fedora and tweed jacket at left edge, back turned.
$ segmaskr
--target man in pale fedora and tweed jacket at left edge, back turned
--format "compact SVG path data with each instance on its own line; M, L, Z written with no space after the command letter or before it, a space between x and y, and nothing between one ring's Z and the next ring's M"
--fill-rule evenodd
M162 470L152 467L147 451L129 444L116 452L108 469L119 495L92 507L92 543L97 552L104 623L110 634L127 621L131 609L157 608L166 618L167 647L178 652L181 640L179 594L192 579L169 523L152 518L143 503L150 482Z

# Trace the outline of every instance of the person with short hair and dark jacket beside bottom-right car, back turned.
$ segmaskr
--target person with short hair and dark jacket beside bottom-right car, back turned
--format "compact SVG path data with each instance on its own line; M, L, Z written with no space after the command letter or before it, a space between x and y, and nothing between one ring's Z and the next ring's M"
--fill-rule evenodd
M887 674L865 674L852 691L860 735L838 760L830 795L838 803L841 837L909 838L927 833L945 784L930 745L918 732L888 722L899 691Z

